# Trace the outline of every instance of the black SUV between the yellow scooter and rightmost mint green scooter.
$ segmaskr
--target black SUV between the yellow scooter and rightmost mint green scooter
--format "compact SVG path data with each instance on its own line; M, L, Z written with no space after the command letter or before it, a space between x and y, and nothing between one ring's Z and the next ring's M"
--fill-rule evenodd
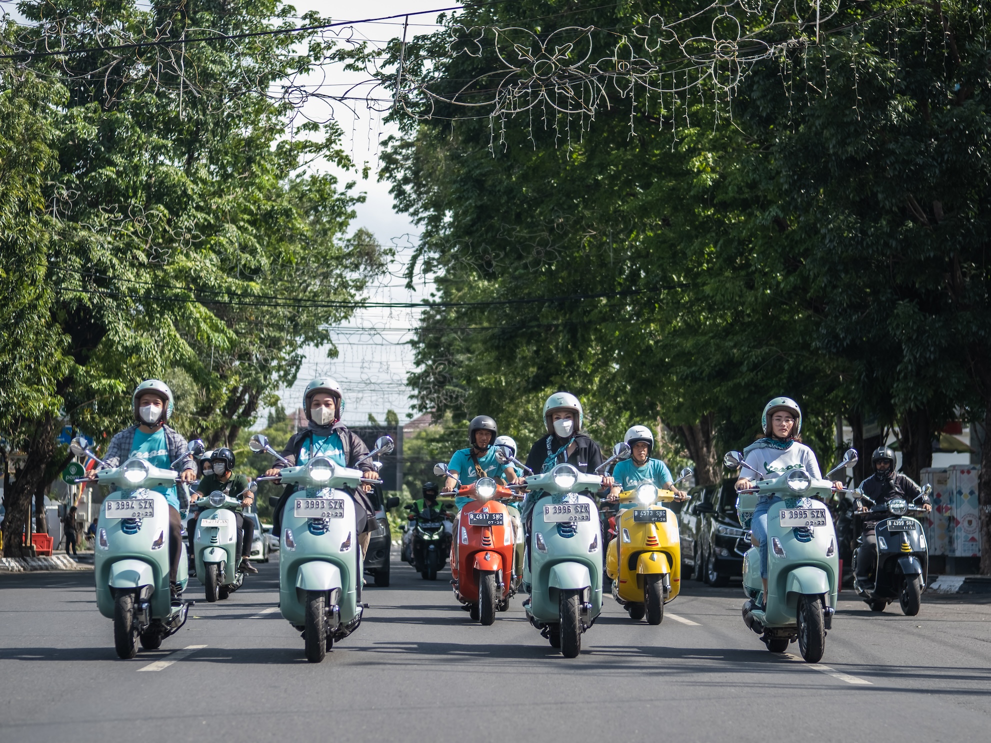
M726 585L743 575L743 555L750 548L736 518L735 479L689 490L692 499L678 518L681 521L682 563L694 568L696 581Z

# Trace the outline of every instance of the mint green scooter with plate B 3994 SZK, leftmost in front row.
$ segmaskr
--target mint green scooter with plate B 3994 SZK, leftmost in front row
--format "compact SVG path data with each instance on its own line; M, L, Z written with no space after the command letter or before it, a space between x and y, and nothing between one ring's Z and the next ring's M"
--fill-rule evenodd
M79 437L69 445L72 454L91 457L103 465ZM203 442L189 442L189 453L171 464L203 452ZM106 468L106 465L104 465ZM120 658L138 654L137 640L146 650L157 650L165 637L185 623L192 601L171 600L168 586L168 503L152 487L174 485L179 474L160 470L132 457L117 468L96 472L97 482L112 491L100 507L93 558L96 605L114 620L114 648ZM76 482L88 481L78 478ZM188 567L185 542L180 540L176 583L185 590Z

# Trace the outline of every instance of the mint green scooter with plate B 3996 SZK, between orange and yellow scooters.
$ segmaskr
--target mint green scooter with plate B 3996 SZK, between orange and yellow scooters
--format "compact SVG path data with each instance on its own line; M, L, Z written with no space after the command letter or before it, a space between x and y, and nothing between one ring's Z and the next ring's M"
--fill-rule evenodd
M629 457L629 446L623 447L625 457L613 455L595 475L562 464L524 479L528 490L539 492L539 499L533 507L523 563L523 584L530 586L523 608L530 624L565 658L582 651L582 634L603 610L606 545L599 508L586 493L602 487L601 473L608 465ZM501 464L512 461L501 447L495 447L495 458Z

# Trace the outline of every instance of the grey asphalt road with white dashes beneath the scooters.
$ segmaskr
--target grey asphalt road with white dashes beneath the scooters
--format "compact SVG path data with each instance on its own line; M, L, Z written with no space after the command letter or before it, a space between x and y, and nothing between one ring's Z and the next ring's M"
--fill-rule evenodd
M689 581L657 627L607 599L567 660L519 597L482 627L447 571L427 583L393 563L392 587L366 590L362 626L312 665L274 609L277 564L260 568L132 661L114 654L92 573L0 576L0 743L991 736L991 596L926 594L905 617L840 593L823 665L810 667L796 645L774 656L744 627L738 584ZM195 579L187 596L203 599Z

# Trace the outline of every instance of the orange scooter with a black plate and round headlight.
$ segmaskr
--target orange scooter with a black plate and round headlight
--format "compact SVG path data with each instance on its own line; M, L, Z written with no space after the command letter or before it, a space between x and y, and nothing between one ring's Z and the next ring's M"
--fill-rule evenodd
M434 472L441 468L446 475L443 463ZM509 607L509 597L516 587L515 534L509 509L500 500L519 496L505 485L496 484L493 478L480 478L470 485L461 485L457 493L441 494L473 498L455 517L451 584L454 595L472 619L492 624L495 612Z

